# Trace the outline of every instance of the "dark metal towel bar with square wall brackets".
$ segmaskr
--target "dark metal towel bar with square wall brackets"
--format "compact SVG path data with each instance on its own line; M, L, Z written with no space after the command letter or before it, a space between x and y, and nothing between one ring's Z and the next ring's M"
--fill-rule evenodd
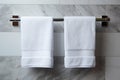
M12 19L10 19L10 21L12 21L13 26L19 26L18 22L21 21L21 20L19 19L18 15L13 15ZM64 21L64 19L63 18L53 18L53 21ZM107 27L108 22L110 21L110 18L106 15L103 15L102 18L96 18L96 21L101 21L102 26Z

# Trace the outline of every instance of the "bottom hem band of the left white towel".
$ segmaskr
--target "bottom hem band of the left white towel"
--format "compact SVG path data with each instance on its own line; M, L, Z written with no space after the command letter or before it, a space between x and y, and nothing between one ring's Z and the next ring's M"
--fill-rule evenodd
M41 67L41 68L52 68L53 59L48 57L41 58L31 58L31 57L22 57L21 61L22 67Z

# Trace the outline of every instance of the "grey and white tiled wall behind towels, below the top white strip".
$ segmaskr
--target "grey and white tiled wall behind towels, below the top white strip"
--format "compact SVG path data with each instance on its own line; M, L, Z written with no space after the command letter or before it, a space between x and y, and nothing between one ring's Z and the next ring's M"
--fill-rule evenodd
M4 2L4 1L2 1ZM71 1L72 2L72 1ZM11 2L12 3L12 2ZM62 3L62 2L61 2ZM65 2L64 2L65 3ZM108 3L107 3L108 4ZM120 6L119 5L0 5L0 79L1 80L119 80ZM20 16L96 16L108 15L108 28L96 24L96 58L94 69L64 68L63 22L54 23L55 65L53 69L20 67L20 27L9 22L11 15ZM58 43L59 42L59 43ZM114 74L113 74L114 73Z

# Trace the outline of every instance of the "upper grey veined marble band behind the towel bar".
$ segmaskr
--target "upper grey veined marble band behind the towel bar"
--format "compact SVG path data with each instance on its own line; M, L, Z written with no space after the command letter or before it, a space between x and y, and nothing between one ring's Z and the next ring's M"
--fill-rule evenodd
M119 5L0 5L0 32L20 31L9 21L12 15L19 16L96 16L108 15L111 18L108 28L96 23L97 32L120 32ZM63 22L55 22L55 32L63 32Z

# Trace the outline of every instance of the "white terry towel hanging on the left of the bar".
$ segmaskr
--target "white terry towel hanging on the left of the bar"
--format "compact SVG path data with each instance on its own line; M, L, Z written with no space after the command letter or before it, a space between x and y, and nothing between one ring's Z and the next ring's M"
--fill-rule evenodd
M53 67L53 19L21 17L22 67Z

